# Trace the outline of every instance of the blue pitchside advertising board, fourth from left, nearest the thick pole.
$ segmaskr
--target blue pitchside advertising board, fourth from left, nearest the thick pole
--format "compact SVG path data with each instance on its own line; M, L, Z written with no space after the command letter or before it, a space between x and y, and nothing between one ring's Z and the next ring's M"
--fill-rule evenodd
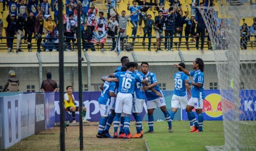
M55 125L55 94L45 93L45 129Z

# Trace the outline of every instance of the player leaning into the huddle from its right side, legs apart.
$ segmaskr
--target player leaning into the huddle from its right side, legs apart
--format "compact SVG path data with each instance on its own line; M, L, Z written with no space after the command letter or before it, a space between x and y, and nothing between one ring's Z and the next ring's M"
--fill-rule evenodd
M166 104L165 104L165 98L164 96L159 97L156 95L154 92L151 90L148 90L150 88L154 88L157 92L160 92L162 94L161 89L159 88L157 84L157 79L155 73L149 72L149 63L148 62L142 62L141 63L141 71L143 74L148 78L149 86L144 86L143 89L145 90L145 95L148 100L146 106L148 107L148 125L149 125L149 131L145 133L153 133L154 132L154 109L157 107L161 108L161 111L165 114L165 119L168 122L168 130L171 132L172 130L172 123L171 123L171 117L170 113L166 109Z

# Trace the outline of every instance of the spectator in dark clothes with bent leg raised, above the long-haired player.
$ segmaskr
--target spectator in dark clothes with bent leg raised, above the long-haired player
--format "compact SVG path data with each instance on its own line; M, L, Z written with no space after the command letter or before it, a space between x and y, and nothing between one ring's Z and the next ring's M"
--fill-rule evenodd
M190 20L186 20L186 27L185 27L187 50L190 50L189 47L188 47L189 34L192 34L192 36L193 36L190 39L190 41L192 41L192 42L194 42L194 38L197 38L199 36L199 34L195 32L195 25L197 25L197 22L195 21L195 16L191 15Z

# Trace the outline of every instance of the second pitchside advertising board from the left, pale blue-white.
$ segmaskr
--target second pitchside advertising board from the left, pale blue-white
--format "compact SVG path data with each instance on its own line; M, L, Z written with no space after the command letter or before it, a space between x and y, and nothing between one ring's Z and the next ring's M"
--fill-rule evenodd
M21 139L35 133L36 94L21 95Z

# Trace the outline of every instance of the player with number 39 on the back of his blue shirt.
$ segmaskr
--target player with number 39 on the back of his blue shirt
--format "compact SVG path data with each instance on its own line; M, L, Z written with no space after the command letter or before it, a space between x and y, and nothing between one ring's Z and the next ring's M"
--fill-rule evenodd
M179 66L185 68L184 63L179 63ZM191 97L191 93L189 90L188 83L185 83L185 80L188 80L188 75L182 72L180 68L178 68L178 72L174 74L174 94L172 96L172 112L171 115L171 122L173 121L174 115L177 112L177 109L179 106L181 106L182 109L186 109L186 106L188 104L188 98L186 96L186 90L188 92L189 98ZM171 130L172 132L172 130Z

